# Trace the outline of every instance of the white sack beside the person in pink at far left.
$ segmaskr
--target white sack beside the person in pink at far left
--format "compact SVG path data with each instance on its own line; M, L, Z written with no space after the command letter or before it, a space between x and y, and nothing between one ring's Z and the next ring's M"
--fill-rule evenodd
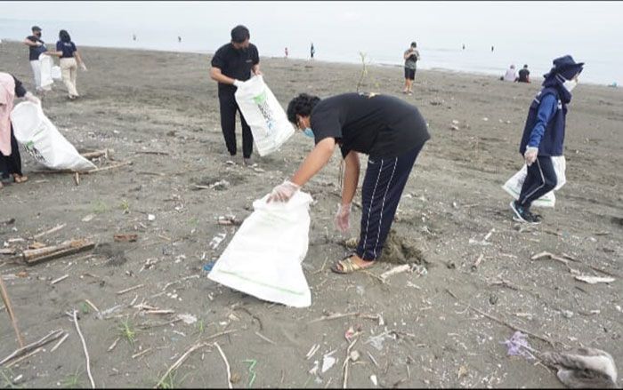
M97 168L80 155L38 104L24 101L11 112L15 139L38 163L53 170L90 171Z

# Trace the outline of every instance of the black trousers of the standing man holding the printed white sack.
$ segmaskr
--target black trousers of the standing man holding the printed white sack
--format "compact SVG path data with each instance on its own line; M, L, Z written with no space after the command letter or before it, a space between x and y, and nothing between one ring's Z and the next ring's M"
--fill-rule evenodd
M238 151L236 147L236 112L239 112L240 122L242 123L242 156L245 158L251 157L253 153L253 133L242 112L240 112L236 98L231 93L219 95L218 99L221 105L221 130L223 131L227 150L230 152L230 155L236 155Z

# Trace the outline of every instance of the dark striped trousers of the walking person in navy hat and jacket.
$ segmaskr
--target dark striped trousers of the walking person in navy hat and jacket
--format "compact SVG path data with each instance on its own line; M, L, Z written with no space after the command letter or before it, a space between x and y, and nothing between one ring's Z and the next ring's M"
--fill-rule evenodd
M518 199L519 204L525 210L530 210L532 202L553 190L557 183L552 157L539 155L537 161L528 167L528 175L523 181L522 193Z

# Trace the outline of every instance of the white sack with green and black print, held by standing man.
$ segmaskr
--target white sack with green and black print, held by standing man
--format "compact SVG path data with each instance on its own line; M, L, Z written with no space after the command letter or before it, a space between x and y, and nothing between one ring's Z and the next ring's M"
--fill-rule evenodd
M269 155L294 134L292 123L262 76L253 76L239 86L235 94L240 112L245 117L257 153Z

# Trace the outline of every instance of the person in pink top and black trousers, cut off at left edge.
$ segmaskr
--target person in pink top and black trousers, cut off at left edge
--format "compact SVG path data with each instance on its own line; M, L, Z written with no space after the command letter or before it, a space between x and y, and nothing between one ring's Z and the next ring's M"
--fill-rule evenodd
M10 117L15 96L41 105L41 100L26 91L20 80L0 72L0 189L7 184L28 180L21 171L20 147L13 134Z

